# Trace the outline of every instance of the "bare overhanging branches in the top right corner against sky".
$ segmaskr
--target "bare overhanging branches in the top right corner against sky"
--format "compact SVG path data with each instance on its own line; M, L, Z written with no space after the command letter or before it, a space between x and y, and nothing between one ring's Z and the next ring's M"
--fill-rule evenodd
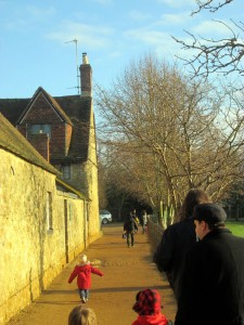
M233 0L222 1L196 1L198 8L193 11L192 15L200 13L203 10L217 12L218 10L227 10L227 5ZM224 6L224 8L223 8ZM208 77L213 73L222 74L224 76L236 73L239 76L244 76L243 55L244 55L244 24L235 22L230 17L230 23L223 21L214 21L226 28L227 38L204 38L195 37L192 32L184 30L192 41L180 40L172 37L185 50L193 50L192 58L183 58L188 66L191 66L195 76Z

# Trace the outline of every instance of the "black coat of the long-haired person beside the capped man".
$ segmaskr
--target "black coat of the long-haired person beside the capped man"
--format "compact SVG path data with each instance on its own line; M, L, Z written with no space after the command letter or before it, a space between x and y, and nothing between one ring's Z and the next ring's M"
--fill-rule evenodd
M153 261L160 272L166 272L176 299L180 295L185 255L195 245L196 234L193 218L169 225L154 252Z

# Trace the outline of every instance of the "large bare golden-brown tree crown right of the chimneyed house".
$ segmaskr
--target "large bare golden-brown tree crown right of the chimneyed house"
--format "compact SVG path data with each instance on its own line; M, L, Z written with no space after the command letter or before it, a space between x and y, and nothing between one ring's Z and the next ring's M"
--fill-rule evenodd
M236 100L233 110L227 93L145 56L111 91L98 87L97 94L120 185L157 210L162 203L176 210L192 187L220 199L243 174L241 106Z

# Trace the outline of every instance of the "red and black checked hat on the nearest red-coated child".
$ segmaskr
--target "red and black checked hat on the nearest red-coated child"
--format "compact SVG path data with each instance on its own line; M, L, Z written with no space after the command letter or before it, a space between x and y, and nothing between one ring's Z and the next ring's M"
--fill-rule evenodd
M160 313L160 296L157 290L144 289L137 294L137 302L132 309L140 315L154 315Z

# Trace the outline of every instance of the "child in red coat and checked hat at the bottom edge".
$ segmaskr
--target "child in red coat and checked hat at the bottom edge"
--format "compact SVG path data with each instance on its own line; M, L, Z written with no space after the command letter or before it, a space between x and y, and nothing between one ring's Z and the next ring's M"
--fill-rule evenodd
M137 294L132 309L139 314L131 325L169 325L172 324L160 312L160 296L157 290L144 289Z

